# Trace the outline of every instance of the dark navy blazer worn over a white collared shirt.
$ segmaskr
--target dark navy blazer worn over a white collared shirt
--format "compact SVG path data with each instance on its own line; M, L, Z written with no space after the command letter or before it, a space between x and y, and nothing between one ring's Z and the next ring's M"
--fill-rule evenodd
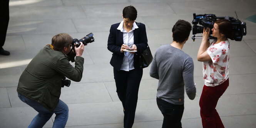
M110 64L114 67L115 70L119 71L124 58L124 53L121 53L121 46L124 43L123 41L123 33L120 30L117 30L117 27L120 23L116 23L111 25L109 39L107 41L107 49L112 52L112 58L110 60ZM138 23L136 22L138 25ZM147 34L146 27L143 23L140 23L134 30L134 44L137 47L137 52L134 53L134 68L139 68L139 55L142 51L147 48Z

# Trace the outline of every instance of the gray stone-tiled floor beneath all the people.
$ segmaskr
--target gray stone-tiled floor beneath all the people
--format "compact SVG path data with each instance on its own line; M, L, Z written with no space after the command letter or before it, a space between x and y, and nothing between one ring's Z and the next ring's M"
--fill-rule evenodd
M137 22L145 23L149 46L172 42L171 28L178 19L192 21L192 13L214 13L246 22L247 35L231 42L230 85L217 110L226 128L256 125L256 23L244 19L256 15L255 0L10 0L10 22L0 56L0 128L26 128L37 114L17 97L17 83L28 62L57 33L82 38L94 33L95 42L85 47L83 78L62 89L60 97L69 106L67 128L122 128L123 111L115 92L113 68L107 50L110 25L122 21L122 9L134 5ZM192 34L192 32L191 32ZM199 35L199 34L198 34ZM194 60L194 100L185 95L182 127L202 128L199 98L204 84L202 64L196 55L200 39L187 41L183 50ZM72 64L74 65L74 64ZM144 69L133 128L160 128L162 114L156 105L158 81ZM55 115L45 128L50 128Z

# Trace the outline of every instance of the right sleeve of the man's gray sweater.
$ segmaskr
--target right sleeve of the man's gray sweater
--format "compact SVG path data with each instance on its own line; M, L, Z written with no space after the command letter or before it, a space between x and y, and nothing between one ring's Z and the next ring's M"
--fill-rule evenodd
M194 85L194 63L192 58L188 58L184 63L183 79L187 96L194 100L196 96L196 86Z

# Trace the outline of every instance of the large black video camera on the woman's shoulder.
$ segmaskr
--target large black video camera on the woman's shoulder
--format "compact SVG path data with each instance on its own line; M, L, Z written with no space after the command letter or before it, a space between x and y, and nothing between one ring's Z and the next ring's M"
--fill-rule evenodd
M236 13L236 12L235 12ZM195 38L202 38L198 37L195 34L202 33L204 30L204 27L210 28L210 30L213 28L214 22L217 19L227 19L231 22L232 25L232 35L230 38L231 40L241 41L243 38L243 35L246 35L246 23L241 22L238 20L238 17L236 15L236 18L234 17L216 17L215 14L199 14L196 15L196 13L193 13L193 27L192 27L192 40L195 41ZM200 24L202 26L197 26L197 24ZM212 31L210 31L210 35L212 34ZM209 39L214 39L214 37L210 36Z

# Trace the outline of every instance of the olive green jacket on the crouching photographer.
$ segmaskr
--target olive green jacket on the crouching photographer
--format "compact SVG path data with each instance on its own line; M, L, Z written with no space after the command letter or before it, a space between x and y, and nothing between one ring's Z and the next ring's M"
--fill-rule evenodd
M17 92L37 101L50 111L59 103L62 78L79 82L82 79L84 58L75 58L75 67L65 53L45 46L31 60L20 76Z

